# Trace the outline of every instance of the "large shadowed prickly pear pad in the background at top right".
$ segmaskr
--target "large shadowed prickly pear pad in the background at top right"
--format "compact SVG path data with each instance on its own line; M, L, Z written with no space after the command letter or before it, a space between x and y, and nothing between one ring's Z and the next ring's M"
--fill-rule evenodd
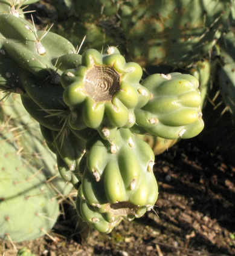
M130 59L185 67L208 56L234 10L230 0L139 0L124 3L119 15Z

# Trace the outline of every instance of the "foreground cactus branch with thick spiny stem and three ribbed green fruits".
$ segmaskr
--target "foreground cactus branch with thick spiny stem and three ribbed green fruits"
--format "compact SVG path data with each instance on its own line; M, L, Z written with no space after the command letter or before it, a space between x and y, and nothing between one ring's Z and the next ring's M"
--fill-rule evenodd
M117 6L108 10L111 1L101 3L107 15L116 12ZM39 123L61 177L78 190L80 217L100 232L111 232L121 220L152 209L158 197L155 155L134 133L175 140L201 132L198 80L170 73L141 82L140 65L126 62L117 47L80 55L49 30L0 14L0 58L6 64L0 88L21 94L22 105Z

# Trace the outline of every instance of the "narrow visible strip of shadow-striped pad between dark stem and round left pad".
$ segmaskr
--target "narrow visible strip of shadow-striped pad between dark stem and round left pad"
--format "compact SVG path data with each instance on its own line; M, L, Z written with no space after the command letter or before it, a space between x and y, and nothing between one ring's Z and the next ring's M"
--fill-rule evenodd
M2 123L2 126L7 123L9 126L14 127L14 136L18 138L17 143L21 149L21 157L31 166L41 169L45 178L51 180L51 186L56 187L61 195L68 195L72 190L72 186L69 183L65 184L59 176L56 156L48 150L45 143L48 138L43 138L40 134L39 124L28 115L24 106L22 106L19 95L10 95L7 101L1 103L0 123Z

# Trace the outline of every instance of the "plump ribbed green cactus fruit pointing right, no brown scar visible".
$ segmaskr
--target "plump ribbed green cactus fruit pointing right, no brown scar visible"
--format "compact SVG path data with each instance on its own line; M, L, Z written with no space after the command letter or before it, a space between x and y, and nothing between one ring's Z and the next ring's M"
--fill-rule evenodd
M198 79L192 75L154 74L141 83L151 93L149 102L135 110L132 131L166 139L192 138L204 127Z

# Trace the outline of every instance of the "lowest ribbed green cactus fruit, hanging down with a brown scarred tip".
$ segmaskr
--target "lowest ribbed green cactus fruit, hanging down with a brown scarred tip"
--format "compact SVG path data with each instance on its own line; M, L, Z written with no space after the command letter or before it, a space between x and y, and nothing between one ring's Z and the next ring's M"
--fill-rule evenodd
M83 158L78 212L98 231L111 232L120 218L132 220L152 209L158 197L155 156L129 129L119 129L110 141L98 139Z

